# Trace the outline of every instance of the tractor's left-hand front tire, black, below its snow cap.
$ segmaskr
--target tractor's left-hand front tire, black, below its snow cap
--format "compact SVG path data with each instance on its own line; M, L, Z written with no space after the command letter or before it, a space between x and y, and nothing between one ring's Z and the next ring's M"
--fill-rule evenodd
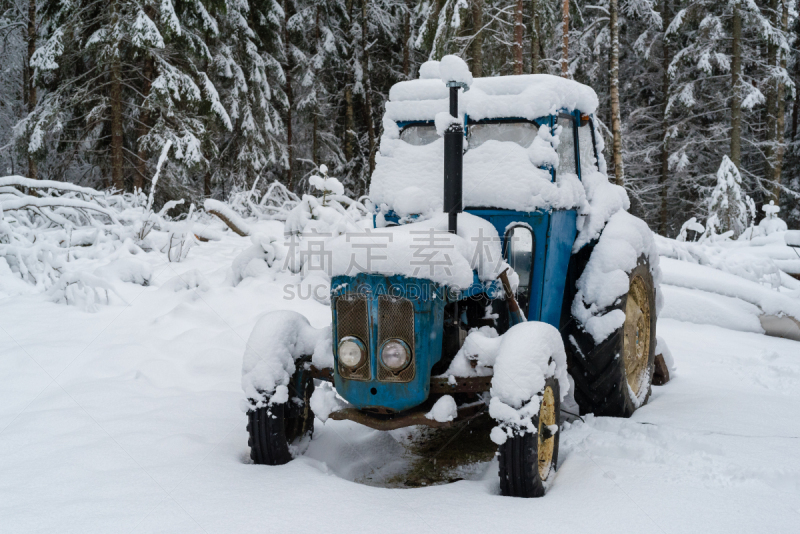
M314 379L305 369L309 358L297 360L289 385L289 400L247 412L247 433L253 463L282 465L292 460L292 448L314 432L311 394Z

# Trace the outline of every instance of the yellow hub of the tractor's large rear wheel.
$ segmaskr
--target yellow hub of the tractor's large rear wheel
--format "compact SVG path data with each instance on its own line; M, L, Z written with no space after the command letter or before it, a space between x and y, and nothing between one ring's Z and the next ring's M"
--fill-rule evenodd
M650 356L650 293L639 276L631 279L628 291L622 348L628 385L638 396L646 380Z

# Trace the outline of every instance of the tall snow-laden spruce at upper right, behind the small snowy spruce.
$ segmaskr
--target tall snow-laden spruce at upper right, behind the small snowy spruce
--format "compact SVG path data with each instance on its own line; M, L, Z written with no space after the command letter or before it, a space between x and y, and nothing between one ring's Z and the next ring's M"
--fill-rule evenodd
M776 54L789 50L790 35L775 8L754 2L701 0L676 8L667 28L674 46L667 111L679 119L670 166L682 169L668 209L691 209L693 191L711 181L723 154L730 154L751 195L770 195L765 165L775 142L775 83L790 79Z

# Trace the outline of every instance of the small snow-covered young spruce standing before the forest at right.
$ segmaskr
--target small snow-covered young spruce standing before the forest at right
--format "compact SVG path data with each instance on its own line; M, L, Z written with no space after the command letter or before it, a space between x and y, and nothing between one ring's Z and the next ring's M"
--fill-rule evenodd
M722 163L717 171L717 185L707 202L706 231L709 234L732 231L736 238L747 228L747 204L742 192L742 176L728 156L722 156Z

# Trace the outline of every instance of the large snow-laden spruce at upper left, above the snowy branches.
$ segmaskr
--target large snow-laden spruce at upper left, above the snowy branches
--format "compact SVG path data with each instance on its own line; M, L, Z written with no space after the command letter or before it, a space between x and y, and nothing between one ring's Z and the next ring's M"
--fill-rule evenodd
M212 57L203 32L215 31L216 21L199 0L180 6L45 2L31 60L40 96L15 128L24 150L46 162L45 174L142 187L167 141L163 185L208 165L207 125L229 122L204 72Z

